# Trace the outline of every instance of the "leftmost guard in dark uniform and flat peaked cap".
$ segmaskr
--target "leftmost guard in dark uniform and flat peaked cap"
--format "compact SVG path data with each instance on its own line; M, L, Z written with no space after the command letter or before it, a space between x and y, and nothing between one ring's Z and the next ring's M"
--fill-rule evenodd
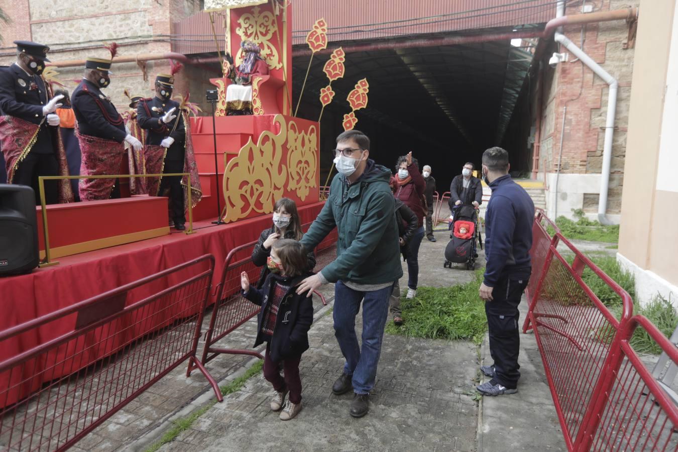
M60 120L54 112L61 106L58 102L63 96L50 100L47 85L41 77L45 62L49 62L49 47L31 41L14 43L16 62L0 67L0 114L39 125L39 128L31 146L32 137L28 135L32 133L17 121L12 123L10 120L3 123L0 140L7 164L7 182L33 187L35 201L40 204L38 176L58 176L60 173L56 145ZM23 134L19 133L20 129ZM15 138L19 142L15 142ZM58 190L57 180L45 181L45 203L58 203Z

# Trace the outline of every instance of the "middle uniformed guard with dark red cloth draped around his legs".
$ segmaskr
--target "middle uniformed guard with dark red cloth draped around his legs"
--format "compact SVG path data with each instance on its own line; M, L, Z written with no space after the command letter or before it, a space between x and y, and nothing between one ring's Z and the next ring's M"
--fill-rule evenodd
M123 117L101 89L111 83L112 60L87 58L83 81L73 91L71 104L77 120L77 136L82 163L81 175L117 174L125 156L124 143L141 150L139 140L127 133ZM119 187L109 179L81 179L79 191L83 201L119 197Z

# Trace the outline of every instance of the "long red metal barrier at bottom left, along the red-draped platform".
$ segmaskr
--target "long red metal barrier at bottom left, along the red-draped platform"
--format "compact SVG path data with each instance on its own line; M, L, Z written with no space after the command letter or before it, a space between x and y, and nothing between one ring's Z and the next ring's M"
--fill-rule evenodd
M73 325L0 363L3 449L68 449L186 360L222 400L195 354L212 272L214 257L203 255L1 331L4 346L26 331Z

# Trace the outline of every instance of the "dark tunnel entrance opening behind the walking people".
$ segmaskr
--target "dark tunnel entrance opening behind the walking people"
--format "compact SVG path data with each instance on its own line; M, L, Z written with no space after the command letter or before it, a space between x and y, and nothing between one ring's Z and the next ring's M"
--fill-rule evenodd
M483 150L502 146L511 156L512 174L527 175L532 155L528 70L534 45L515 39L422 47L394 44L361 52L348 47L346 73L332 83L336 96L321 120L321 184L332 165L334 140L343 131L342 117L351 111L346 96L365 77L369 103L356 112L355 128L370 136L370 157L377 163L393 170L397 157L412 150L420 168L433 167L442 193L466 161L478 168ZM310 58L293 58L293 106ZM298 117L319 117L327 58L313 58Z

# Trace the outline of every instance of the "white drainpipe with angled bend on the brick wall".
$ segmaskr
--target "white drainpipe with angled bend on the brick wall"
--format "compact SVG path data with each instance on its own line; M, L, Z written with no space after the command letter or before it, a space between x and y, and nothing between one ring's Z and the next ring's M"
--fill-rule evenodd
M565 2L557 3L556 17L562 17L565 14ZM603 141L603 168L600 175L600 197L598 199L598 221L601 224L611 224L607 219L607 191L610 188L610 163L612 162L612 138L614 136L614 116L617 110L617 88L619 83L612 77L600 64L593 61L586 55L582 49L574 45L570 39L567 39L559 28L553 39L557 43L564 45L574 56L579 58L582 63L593 70L593 73L603 79L607 85L610 85L610 91L607 95L607 118L605 119L605 140Z

